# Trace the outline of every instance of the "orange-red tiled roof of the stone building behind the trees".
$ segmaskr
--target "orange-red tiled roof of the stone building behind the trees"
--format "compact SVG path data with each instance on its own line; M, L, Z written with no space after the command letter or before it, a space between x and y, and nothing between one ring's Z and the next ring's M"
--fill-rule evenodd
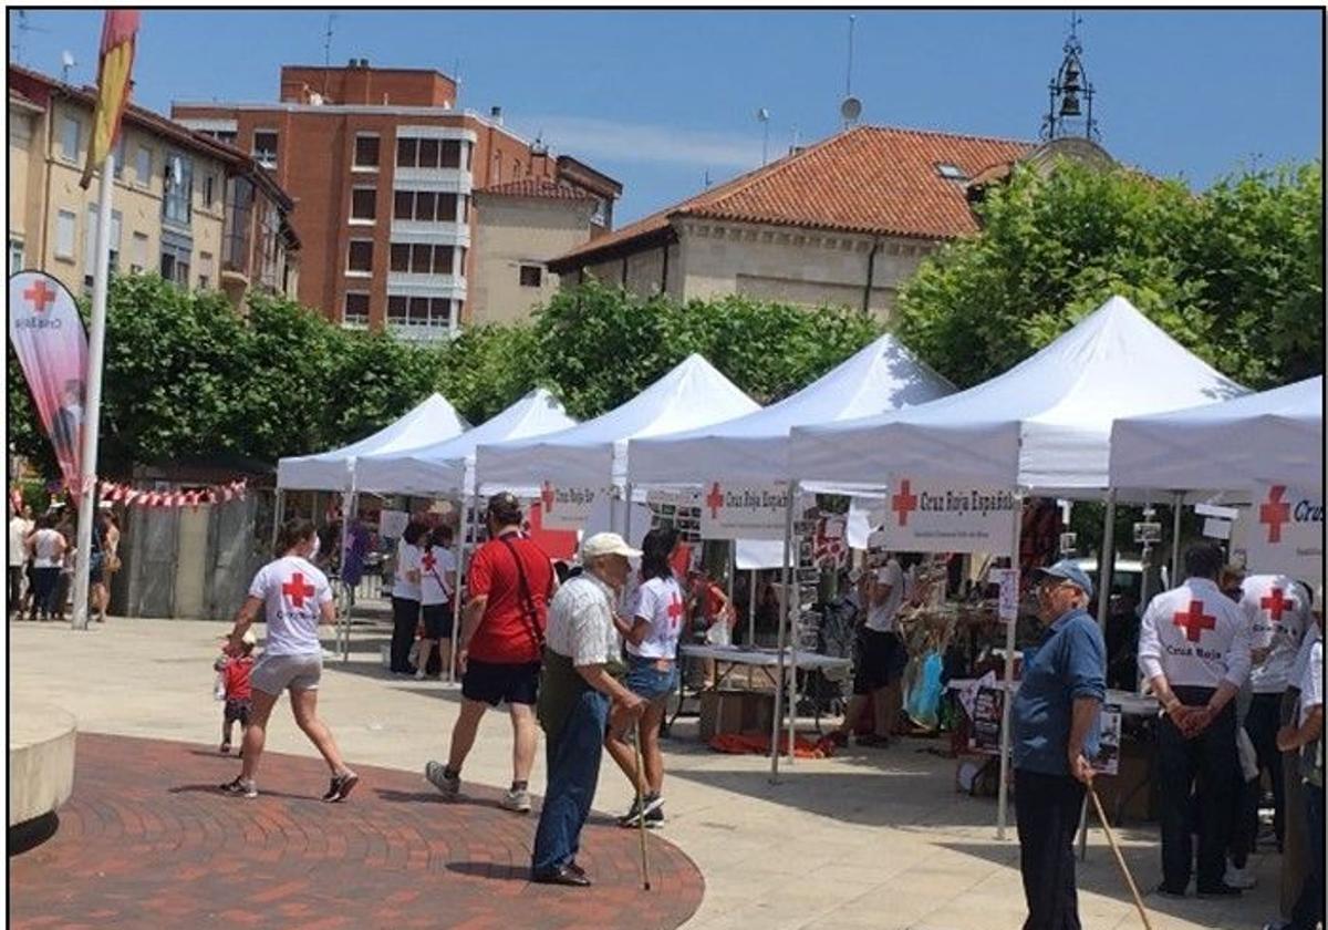
M570 270L599 252L631 251L635 240L665 232L673 217L954 239L977 231L965 179L1036 147L1017 140L858 126L594 239L550 268ZM965 178L943 178L936 169L943 163Z

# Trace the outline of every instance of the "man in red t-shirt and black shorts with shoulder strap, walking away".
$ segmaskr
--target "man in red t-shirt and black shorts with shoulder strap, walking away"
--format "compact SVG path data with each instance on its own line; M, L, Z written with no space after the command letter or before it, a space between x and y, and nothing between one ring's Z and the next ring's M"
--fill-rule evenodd
M502 805L530 812L527 784L535 763L535 696L544 650L548 601L558 586L548 554L521 533L521 501L503 492L489 498L489 542L470 561L466 610L457 640L461 715L452 729L448 764L429 761L424 773L444 797L461 793L461 765L475 744L487 707L507 703L515 748L511 788Z

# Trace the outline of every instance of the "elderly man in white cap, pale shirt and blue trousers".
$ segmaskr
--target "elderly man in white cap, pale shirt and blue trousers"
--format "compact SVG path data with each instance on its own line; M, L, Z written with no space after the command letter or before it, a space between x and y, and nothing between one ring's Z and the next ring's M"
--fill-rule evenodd
M616 533L592 535L582 543L584 571L568 578L548 606L538 701L548 789L531 857L531 880L539 884L590 885L576 850L595 797L604 732L623 732L645 708L612 675L622 671L623 650L615 604L631 571L628 559L640 555Z

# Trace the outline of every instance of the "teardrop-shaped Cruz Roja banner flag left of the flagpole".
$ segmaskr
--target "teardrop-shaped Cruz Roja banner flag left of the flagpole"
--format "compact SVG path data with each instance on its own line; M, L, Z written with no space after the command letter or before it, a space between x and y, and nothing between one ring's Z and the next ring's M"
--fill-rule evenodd
M9 341L66 488L78 486L88 336L65 286L40 271L9 279Z

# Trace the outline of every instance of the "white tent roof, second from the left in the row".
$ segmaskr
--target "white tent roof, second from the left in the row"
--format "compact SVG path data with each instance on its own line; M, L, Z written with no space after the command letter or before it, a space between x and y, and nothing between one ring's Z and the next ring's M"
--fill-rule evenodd
M576 421L543 388L531 391L502 413L461 436L409 453L363 456L355 468L360 490L436 494L474 490L475 446L481 442L544 436Z

